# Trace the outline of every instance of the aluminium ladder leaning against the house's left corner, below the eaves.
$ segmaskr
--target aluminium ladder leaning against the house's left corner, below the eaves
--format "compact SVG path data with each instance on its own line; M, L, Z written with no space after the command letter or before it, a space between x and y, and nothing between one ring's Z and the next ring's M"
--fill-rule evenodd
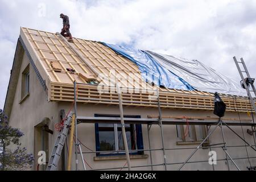
M72 113L70 113L66 118L64 122L63 129L60 130L56 140L55 144L52 149L51 158L49 159L48 166L46 168L46 171L55 171L60 159L61 151L63 149L65 140L68 136L68 131L70 127L70 123L72 120Z

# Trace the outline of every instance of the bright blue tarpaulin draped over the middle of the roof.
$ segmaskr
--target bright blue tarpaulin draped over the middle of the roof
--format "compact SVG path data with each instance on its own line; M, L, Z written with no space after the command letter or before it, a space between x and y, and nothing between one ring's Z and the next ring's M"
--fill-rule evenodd
M162 85L170 89L194 90L188 82L162 67L162 65L153 59L146 51L130 47L116 46L104 42L102 42L102 44L137 64L141 71L142 78L146 82L154 82L155 85Z

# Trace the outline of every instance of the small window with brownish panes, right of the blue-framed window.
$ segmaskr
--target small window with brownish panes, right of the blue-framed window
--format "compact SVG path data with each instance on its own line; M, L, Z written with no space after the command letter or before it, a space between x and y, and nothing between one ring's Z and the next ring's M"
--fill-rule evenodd
M205 125L176 125L179 142L202 141L206 137Z

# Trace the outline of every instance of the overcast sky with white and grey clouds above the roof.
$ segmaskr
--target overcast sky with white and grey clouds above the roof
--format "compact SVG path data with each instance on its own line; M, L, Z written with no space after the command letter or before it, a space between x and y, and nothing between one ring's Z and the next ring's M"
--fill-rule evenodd
M3 108L19 27L72 35L197 59L240 81L233 56L256 77L255 0L31 1L0 0L0 108Z

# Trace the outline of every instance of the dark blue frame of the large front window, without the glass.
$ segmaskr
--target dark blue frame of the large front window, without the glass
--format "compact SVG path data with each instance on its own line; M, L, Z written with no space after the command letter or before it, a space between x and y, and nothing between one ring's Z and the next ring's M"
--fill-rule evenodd
M120 117L120 115L112 115L112 114L94 114L94 117ZM140 115L124 115L125 118L141 118ZM115 139L115 151L116 152L109 152L109 153L101 153L100 152L100 131L99 131L99 123L95 123L95 137L96 137L96 156L116 156L116 155L125 155L125 152L119 152L117 150L118 146L118 131L117 131L117 125L119 123L111 123L113 124L114 127L114 139ZM133 129L133 133L131 133L131 138L133 138L134 133L137 134L136 136L136 144L135 144L135 149L134 150L143 150L143 136L142 136L142 125L141 124L129 124L131 129ZM135 141L134 141L135 142ZM134 143L131 143L133 147ZM119 148L118 148L119 149ZM134 151L134 152L129 152L130 155L142 155L144 154L143 151Z

